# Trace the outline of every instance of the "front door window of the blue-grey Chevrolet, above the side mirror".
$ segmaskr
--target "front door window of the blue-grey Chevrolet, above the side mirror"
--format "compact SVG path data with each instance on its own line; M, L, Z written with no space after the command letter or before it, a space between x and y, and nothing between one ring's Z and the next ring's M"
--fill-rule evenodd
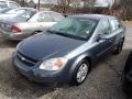
M102 34L110 34L111 33L111 30L110 30L110 23L108 20L102 20L101 21L101 26L100 26L100 30L101 30L101 33Z

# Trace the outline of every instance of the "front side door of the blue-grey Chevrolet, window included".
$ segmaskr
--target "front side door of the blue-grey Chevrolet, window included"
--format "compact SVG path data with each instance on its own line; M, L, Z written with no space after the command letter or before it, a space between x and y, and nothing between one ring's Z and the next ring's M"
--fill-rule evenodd
M105 36L105 38L99 38L97 41L96 46L96 56L97 58L106 57L111 52L112 42L114 41L113 36L111 34L111 28L110 22L108 19L103 19L101 21L100 28L99 28L99 36Z

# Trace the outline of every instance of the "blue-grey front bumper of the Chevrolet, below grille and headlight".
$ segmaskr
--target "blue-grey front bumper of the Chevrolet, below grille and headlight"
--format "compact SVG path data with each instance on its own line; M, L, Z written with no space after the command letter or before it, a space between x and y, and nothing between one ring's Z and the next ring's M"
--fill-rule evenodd
M16 58L15 53L12 55L12 64L20 74L22 74L30 80L36 82L43 82L47 85L54 85L54 84L58 85L58 84L65 84L67 81L66 80L67 76L62 70L61 72L42 70L38 68L40 63L33 67L29 67Z

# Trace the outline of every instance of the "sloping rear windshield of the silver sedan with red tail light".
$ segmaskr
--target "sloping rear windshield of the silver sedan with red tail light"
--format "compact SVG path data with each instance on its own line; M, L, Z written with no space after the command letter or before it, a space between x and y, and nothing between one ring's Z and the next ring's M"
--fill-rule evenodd
M29 19L31 19L34 14L36 13L36 11L25 11L23 13L20 13L15 16L16 20L22 20L22 21L28 21Z

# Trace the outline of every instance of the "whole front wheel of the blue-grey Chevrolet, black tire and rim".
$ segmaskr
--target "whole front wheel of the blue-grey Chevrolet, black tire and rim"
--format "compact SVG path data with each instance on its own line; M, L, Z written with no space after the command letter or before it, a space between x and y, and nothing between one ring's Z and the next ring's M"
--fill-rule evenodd
M70 85L72 86L81 85L87 78L87 75L89 73L89 67L90 67L90 65L89 65L88 61L82 59L78 64L77 68L75 69L75 72L73 74L73 79L72 79Z

